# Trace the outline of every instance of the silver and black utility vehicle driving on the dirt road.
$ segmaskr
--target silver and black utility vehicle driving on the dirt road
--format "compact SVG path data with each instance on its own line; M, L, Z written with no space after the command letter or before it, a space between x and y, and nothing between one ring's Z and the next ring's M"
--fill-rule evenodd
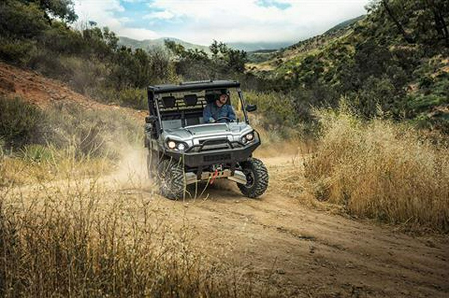
M145 122L147 166L161 194L169 199L186 196L187 185L226 178L235 181L243 195L256 198L268 186L263 162L252 157L260 145L251 128L246 105L237 81L196 81L179 85L148 87L149 116ZM236 120L227 117L205 123L203 110L225 92L238 95ZM236 96L237 97L237 96Z

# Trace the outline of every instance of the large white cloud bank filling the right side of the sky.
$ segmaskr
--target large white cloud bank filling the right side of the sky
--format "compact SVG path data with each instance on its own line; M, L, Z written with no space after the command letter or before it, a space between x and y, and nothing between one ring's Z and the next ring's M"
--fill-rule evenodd
M260 6L256 0L155 0L150 7L191 20L165 31L184 40L286 41L316 35L350 17L363 14L368 0L283 0L285 9Z

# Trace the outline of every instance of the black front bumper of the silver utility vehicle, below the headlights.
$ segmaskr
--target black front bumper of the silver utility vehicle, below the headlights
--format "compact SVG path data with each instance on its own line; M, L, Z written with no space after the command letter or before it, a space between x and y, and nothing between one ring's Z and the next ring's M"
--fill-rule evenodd
M217 163L230 163L246 160L251 156L251 153L260 145L257 140L253 144L247 145L243 148L234 149L218 149L201 152L175 152L167 150L165 155L175 159L182 158L184 164L188 167L204 167Z

